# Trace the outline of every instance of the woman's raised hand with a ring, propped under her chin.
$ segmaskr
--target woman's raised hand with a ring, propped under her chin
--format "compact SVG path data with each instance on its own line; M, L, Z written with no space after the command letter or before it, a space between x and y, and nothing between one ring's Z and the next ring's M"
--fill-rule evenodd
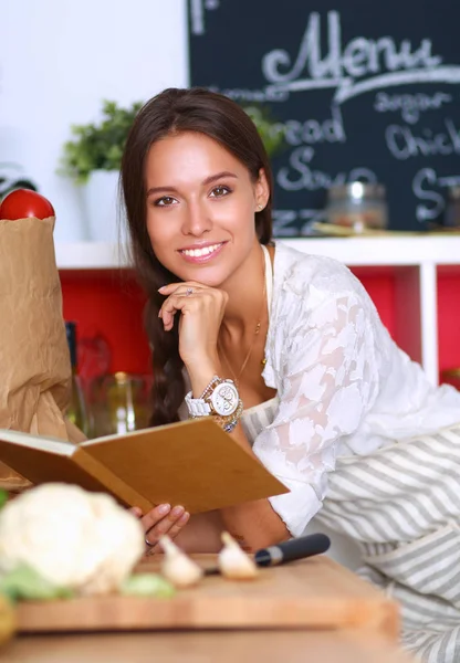
M179 355L190 377L198 371L206 375L205 381L209 382L219 368L217 340L228 302L227 293L194 281L170 283L160 287L159 292L167 295L159 311L166 332L172 329L176 313L181 314Z

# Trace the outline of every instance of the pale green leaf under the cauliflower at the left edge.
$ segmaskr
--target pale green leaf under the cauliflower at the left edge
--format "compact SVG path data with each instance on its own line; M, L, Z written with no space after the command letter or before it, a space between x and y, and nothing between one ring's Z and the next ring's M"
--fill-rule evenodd
M18 566L0 578L0 593L12 601L50 601L74 596L72 590L56 587L27 565Z

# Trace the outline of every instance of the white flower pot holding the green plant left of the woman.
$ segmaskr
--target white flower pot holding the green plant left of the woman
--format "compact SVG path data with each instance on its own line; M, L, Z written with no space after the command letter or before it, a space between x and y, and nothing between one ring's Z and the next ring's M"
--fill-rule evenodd
M88 240L125 242L126 228L118 204L117 170L93 170L83 186L83 209Z

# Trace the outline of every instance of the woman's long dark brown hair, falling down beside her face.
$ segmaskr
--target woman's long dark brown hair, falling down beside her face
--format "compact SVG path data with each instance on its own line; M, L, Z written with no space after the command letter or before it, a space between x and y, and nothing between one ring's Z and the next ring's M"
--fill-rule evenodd
M164 302L158 288L177 281L177 276L157 260L147 233L145 162L154 143L184 131L197 131L217 140L248 168L253 181L263 168L270 192L273 190L270 160L262 140L253 122L236 102L199 87L168 88L139 110L122 159L121 197L130 239L130 257L148 297L144 324L153 350L151 425L178 421L186 388L178 351L178 316L171 332L165 332L158 318ZM266 207L255 213L255 231L262 244L271 240L271 196Z

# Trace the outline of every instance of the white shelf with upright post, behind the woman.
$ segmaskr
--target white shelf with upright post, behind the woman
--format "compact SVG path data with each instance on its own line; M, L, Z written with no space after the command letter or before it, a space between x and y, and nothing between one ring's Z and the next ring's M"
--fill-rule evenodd
M388 238L283 239L289 246L327 255L351 267L395 269L396 340L430 381L438 383L437 274L440 265L460 271L460 236L405 235ZM127 251L117 244L56 244L60 270L128 267Z

